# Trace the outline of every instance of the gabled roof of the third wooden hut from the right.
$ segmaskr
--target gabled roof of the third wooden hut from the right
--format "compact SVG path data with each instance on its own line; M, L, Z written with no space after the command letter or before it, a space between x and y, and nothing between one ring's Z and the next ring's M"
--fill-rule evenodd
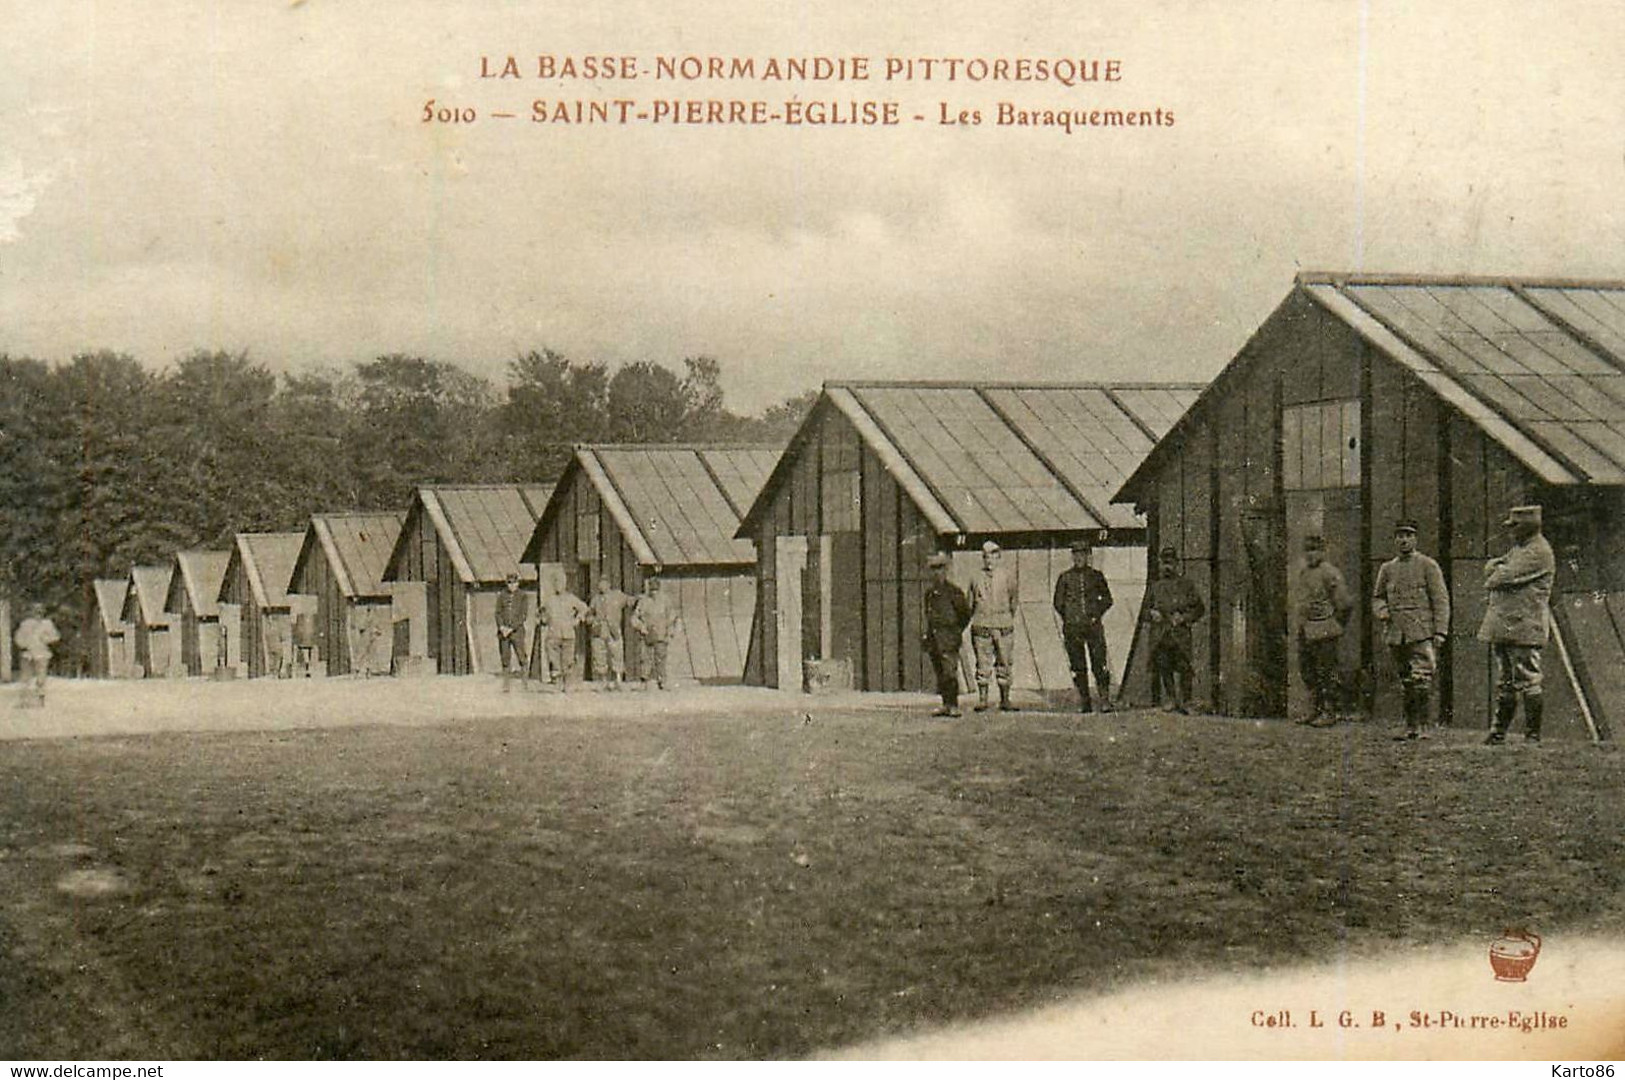
M575 477L583 477L639 564L751 565L756 549L734 539L734 533L778 451L778 447L733 445L580 445L520 557L540 559L544 531L564 513Z

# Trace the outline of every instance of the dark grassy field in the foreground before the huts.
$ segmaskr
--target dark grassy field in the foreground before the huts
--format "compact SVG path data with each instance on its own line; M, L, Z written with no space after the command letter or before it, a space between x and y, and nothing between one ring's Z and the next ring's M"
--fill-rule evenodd
M1588 745L634 713L0 744L0 1057L801 1056L1625 929Z

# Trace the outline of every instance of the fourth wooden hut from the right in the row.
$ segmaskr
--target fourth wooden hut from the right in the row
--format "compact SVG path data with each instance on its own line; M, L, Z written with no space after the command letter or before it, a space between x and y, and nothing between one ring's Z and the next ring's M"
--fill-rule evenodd
M510 572L535 583L520 554L551 494L548 484L418 489L384 580L416 591L440 674L497 671L497 593Z

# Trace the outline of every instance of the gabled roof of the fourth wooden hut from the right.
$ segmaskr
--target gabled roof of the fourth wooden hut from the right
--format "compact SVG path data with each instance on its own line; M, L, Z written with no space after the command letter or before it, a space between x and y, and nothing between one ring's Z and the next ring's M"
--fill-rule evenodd
M552 495L551 484L465 484L419 487L406 512L401 538L390 552L385 581L401 580L403 544L419 518L427 516L465 585L500 585L509 573L535 580L535 567L522 567L520 554L536 518Z

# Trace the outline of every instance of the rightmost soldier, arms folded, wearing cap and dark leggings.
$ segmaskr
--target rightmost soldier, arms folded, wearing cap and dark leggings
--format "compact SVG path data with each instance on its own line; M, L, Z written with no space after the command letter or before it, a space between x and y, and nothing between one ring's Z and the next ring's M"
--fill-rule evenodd
M1495 719L1490 745L1506 741L1506 729L1524 703L1524 741L1540 742L1540 650L1552 627L1552 578L1557 559L1540 534L1540 507L1513 507L1502 521L1513 536L1505 555L1484 565L1488 607L1479 627L1479 640L1490 645L1495 656Z

